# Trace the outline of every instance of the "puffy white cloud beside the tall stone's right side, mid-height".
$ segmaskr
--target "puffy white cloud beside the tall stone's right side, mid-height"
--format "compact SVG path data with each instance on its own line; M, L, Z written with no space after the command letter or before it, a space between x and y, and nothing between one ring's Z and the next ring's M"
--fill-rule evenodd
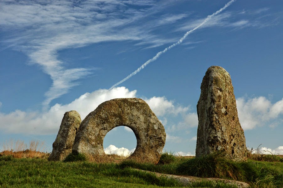
M239 121L244 130L264 125L275 127L283 119L283 98L272 104L265 97L240 97L236 103Z

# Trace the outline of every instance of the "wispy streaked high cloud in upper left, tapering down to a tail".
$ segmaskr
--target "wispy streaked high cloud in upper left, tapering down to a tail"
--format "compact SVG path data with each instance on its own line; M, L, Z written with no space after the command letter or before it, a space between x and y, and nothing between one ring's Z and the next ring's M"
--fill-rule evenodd
M148 8L135 9L129 4ZM149 34L151 28L136 21L158 11L157 6L153 1L1 1L0 27L9 32L5 33L2 43L21 50L50 75L53 83L43 102L47 106L93 70L89 67L67 69L65 62L57 58L58 50L103 41L139 40L154 44L158 37ZM182 16L172 15L168 19L172 22Z

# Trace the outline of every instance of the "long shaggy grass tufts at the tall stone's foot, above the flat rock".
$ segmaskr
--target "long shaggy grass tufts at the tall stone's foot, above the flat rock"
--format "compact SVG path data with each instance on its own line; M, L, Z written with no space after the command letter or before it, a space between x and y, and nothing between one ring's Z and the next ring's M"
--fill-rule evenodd
M219 153L187 160L178 165L176 173L238 180L251 187L283 187L282 162L235 162L224 159Z

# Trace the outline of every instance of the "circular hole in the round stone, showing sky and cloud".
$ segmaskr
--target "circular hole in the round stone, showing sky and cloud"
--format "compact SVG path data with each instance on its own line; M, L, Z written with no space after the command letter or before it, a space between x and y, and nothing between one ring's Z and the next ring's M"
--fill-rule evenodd
M115 127L104 137L103 148L105 154L115 154L121 159L128 158L136 149L136 136L131 128Z

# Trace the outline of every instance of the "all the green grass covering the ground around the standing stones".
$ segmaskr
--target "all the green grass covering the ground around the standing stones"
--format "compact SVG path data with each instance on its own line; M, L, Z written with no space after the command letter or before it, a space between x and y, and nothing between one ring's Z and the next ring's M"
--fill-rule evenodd
M166 154L168 155L168 154ZM174 156L174 155L173 155ZM73 156L74 157L74 156ZM172 156L169 156L172 157ZM82 157L75 156L75 160ZM140 170L175 175L241 180L251 187L283 187L283 163L248 160L233 162L221 155L186 159L174 156L163 164L48 162L47 159L15 159L0 156L0 187L182 187L178 181ZM231 188L222 182L194 182L188 187Z

